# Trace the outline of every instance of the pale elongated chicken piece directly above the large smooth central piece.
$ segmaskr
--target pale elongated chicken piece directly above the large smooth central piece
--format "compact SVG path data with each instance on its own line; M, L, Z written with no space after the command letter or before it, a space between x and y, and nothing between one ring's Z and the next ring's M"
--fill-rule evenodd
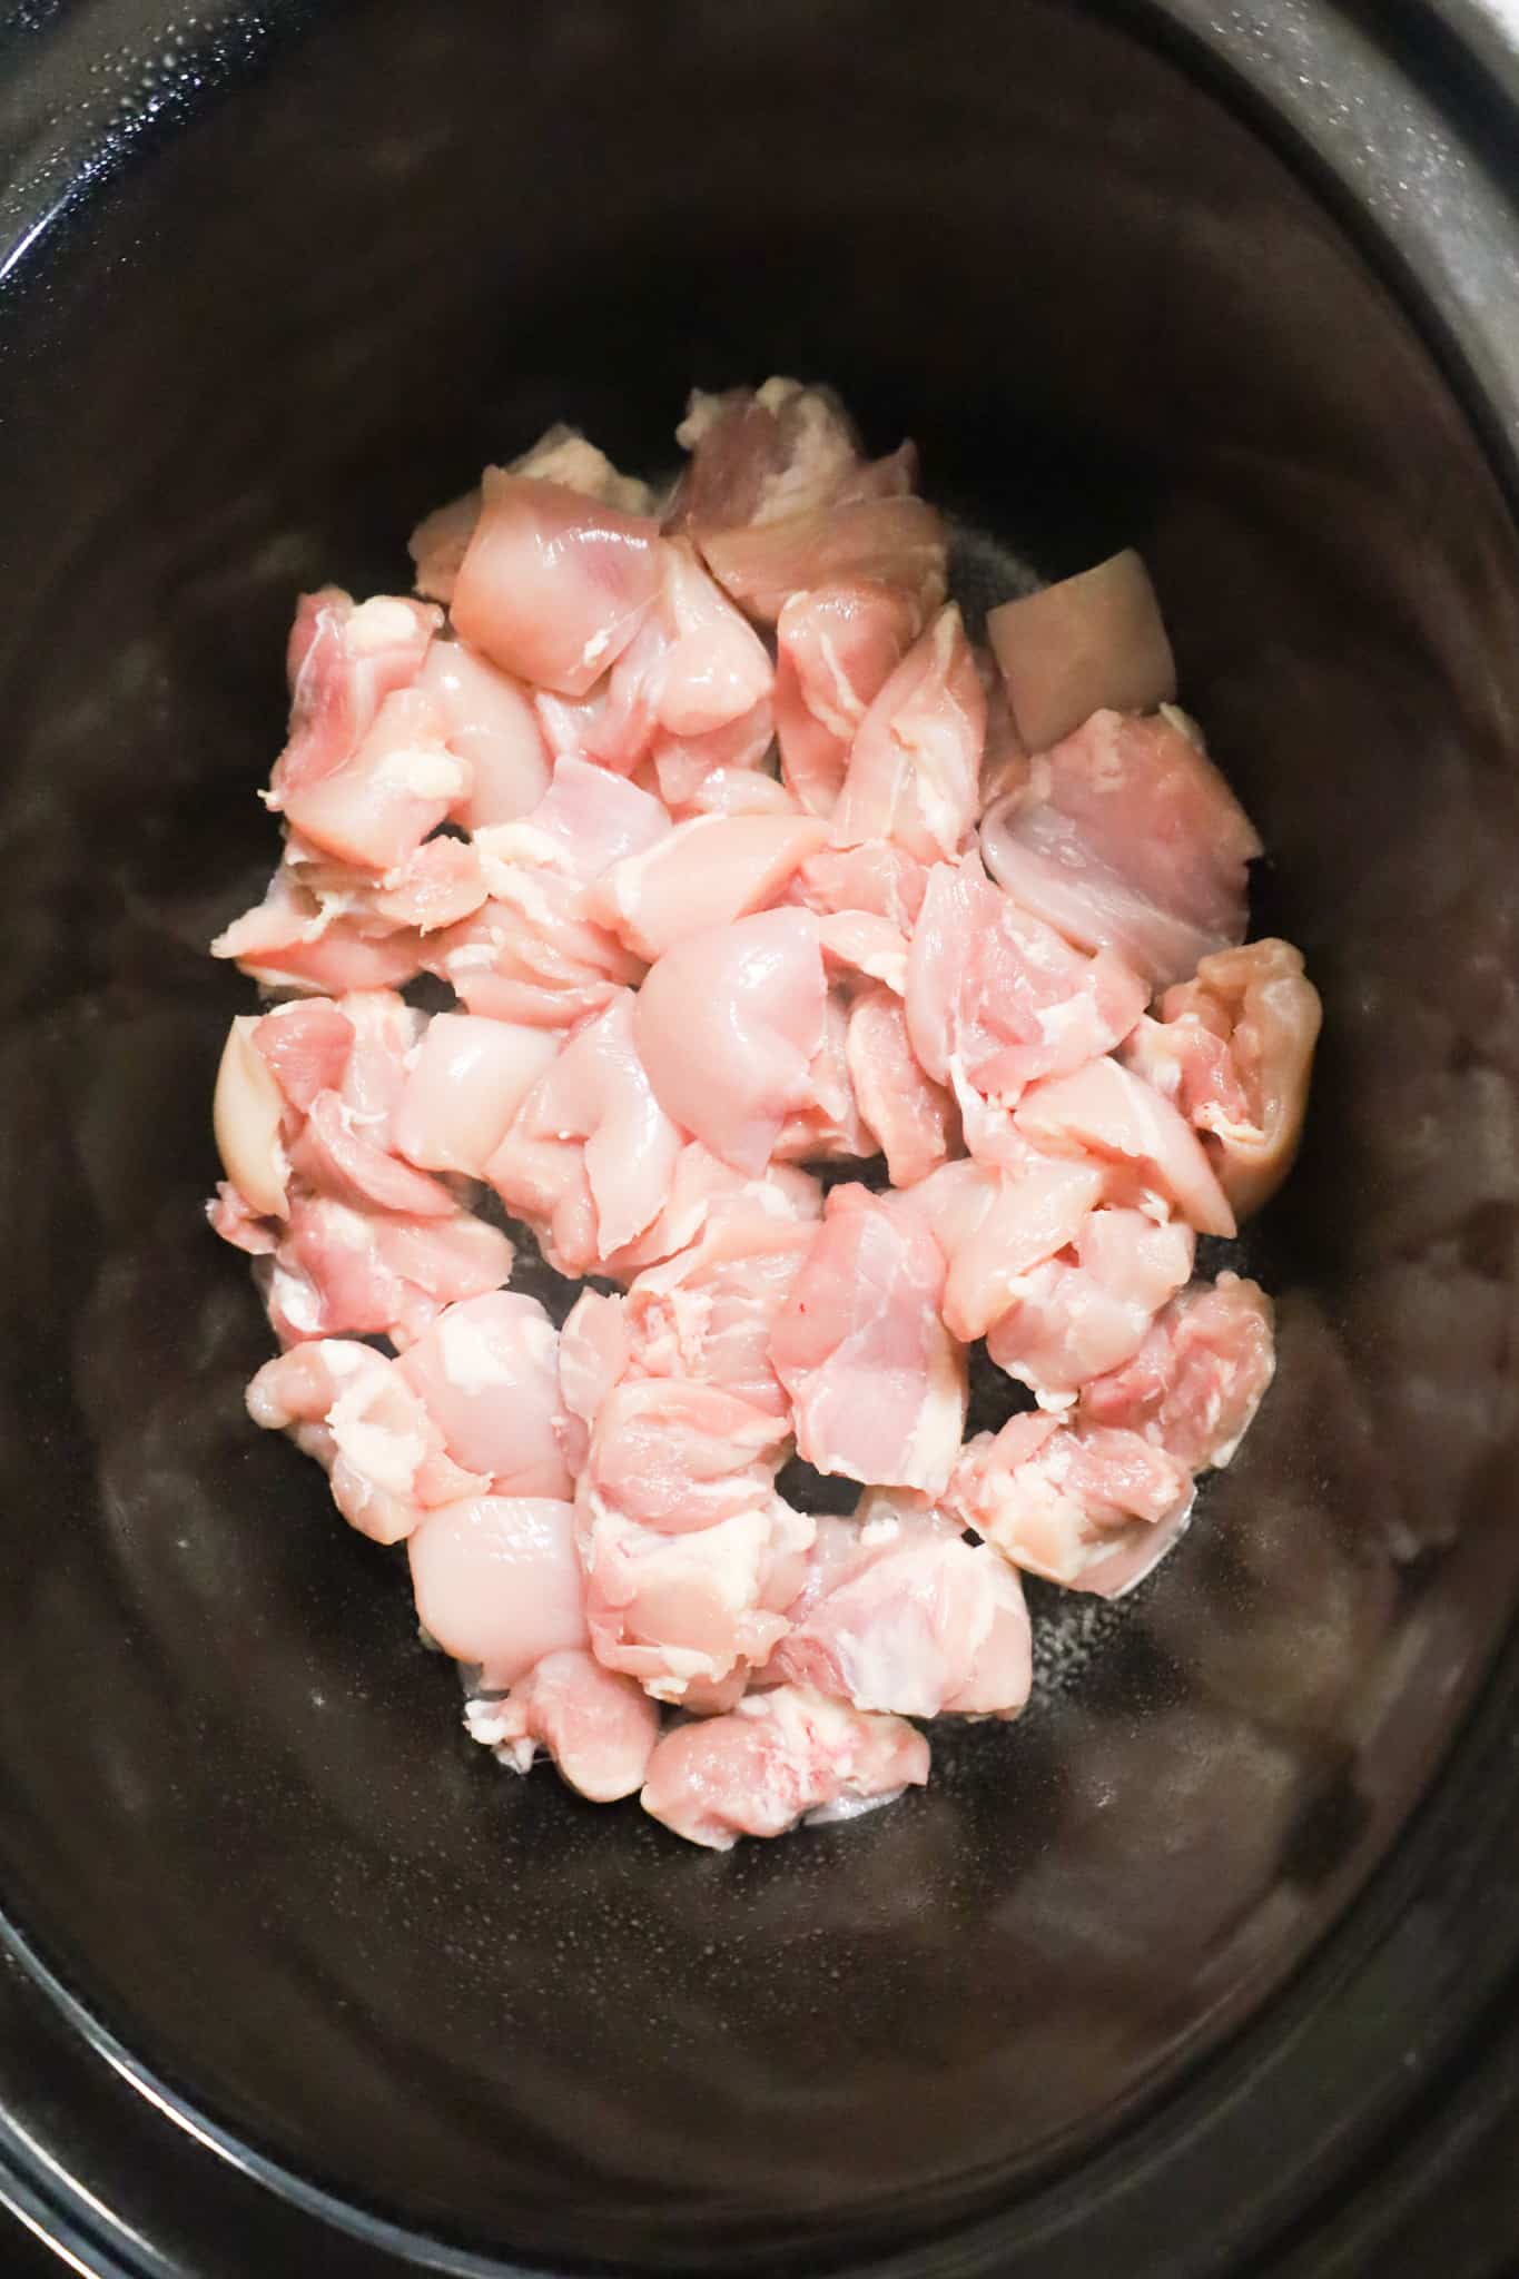
M763 909L824 839L827 825L811 816L697 816L615 864L592 907L654 962L683 934Z

